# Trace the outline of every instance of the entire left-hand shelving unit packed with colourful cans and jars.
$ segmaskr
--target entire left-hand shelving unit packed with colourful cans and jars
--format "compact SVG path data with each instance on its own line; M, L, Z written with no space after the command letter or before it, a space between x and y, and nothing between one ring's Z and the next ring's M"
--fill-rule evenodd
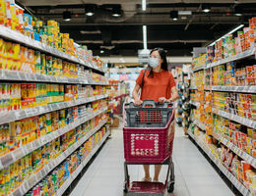
M109 134L105 65L13 0L0 34L0 195L53 195Z

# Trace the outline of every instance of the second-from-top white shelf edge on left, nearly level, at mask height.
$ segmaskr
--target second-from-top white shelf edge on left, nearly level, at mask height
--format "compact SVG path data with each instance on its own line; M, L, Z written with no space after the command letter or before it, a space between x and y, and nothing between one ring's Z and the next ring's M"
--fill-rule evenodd
M108 85L108 82L94 81L90 79L84 79L81 77L54 76L40 73L26 73L21 71L8 70L0 70L0 80Z

